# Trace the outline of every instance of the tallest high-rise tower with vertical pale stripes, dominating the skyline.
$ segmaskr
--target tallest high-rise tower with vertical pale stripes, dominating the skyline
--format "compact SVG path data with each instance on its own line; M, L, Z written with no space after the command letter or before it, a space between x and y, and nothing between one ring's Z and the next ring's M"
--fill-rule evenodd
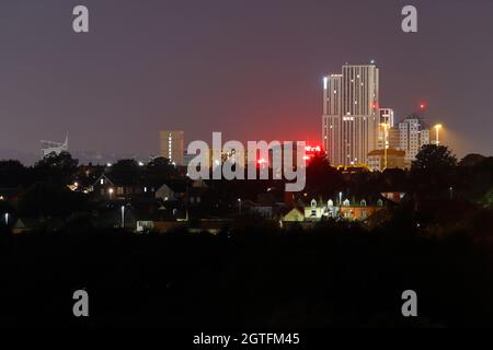
M323 79L322 141L333 165L367 164L377 148L378 79L375 65L345 65Z

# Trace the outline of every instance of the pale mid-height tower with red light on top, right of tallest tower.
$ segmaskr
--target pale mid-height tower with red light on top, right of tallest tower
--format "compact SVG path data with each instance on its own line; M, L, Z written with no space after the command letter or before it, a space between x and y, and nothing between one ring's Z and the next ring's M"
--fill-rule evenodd
M399 122L400 149L405 152L405 163L409 166L416 159L421 148L429 143L429 130L423 119L413 114Z

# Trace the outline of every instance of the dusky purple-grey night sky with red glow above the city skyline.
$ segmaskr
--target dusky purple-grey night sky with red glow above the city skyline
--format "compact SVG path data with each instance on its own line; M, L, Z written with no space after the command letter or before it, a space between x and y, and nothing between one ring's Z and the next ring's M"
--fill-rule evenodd
M0 150L66 131L71 149L142 154L159 129L318 141L322 75L375 59L382 106L425 101L459 155L491 155L492 43L491 0L2 0Z

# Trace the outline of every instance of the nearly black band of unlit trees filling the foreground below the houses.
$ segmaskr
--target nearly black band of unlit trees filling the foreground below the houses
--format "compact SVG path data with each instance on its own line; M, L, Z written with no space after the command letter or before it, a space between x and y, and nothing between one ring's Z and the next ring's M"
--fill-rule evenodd
M245 221L215 236L73 230L3 238L0 323L493 325L493 245L468 230L432 237L401 222L372 231L335 222L280 231L259 219ZM71 314L79 289L90 295L87 319ZM419 295L416 318L401 315L408 289Z

